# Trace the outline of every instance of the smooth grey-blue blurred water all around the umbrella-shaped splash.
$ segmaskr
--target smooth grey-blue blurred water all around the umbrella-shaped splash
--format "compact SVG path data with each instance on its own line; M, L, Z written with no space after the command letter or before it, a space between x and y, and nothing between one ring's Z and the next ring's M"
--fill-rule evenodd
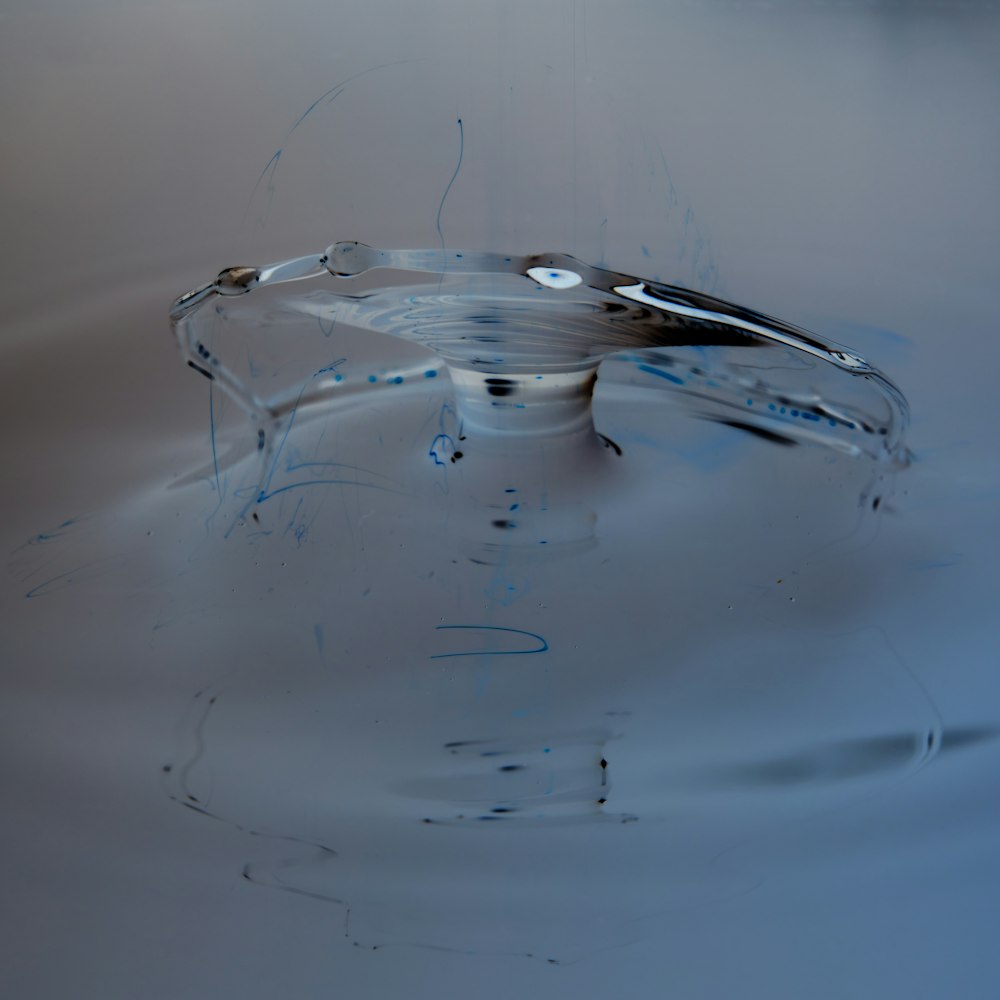
M995 12L391 13L5 21L10 989L995 995ZM169 303L355 238L776 314L914 461L613 362L621 455L453 462L419 345L332 331L380 391L247 507Z

